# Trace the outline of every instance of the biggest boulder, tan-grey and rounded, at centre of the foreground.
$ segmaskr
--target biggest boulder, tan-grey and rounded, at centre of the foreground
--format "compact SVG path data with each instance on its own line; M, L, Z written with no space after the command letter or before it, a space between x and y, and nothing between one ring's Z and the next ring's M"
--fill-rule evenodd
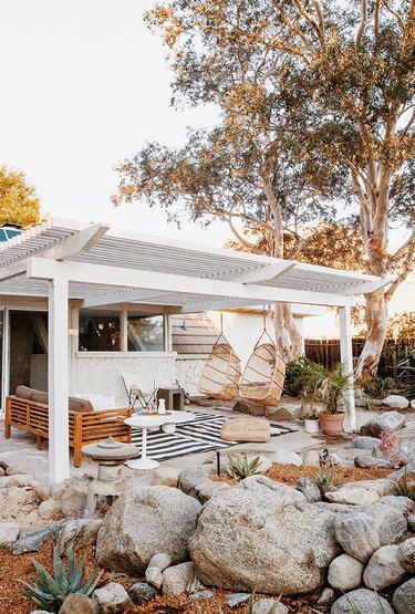
M205 504L190 556L210 586L310 593L340 551L334 519L293 488L255 476Z

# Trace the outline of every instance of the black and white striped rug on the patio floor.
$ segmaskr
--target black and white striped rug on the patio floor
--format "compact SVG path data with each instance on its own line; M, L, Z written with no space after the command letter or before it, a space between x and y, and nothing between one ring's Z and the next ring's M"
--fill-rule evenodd
M173 434L163 430L147 433L147 455L154 460L167 460L176 456L208 452L236 446L239 441L224 441L220 428L229 418L211 414L196 414L190 423L179 424ZM286 435L291 430L284 426L271 424L271 437ZM142 447L143 431L132 430L132 444Z

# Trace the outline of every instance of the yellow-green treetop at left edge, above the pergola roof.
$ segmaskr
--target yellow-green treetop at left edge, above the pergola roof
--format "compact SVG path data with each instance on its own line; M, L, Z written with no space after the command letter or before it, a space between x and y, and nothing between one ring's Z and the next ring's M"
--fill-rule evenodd
M40 202L23 173L0 166L0 225L7 222L23 228L39 223Z

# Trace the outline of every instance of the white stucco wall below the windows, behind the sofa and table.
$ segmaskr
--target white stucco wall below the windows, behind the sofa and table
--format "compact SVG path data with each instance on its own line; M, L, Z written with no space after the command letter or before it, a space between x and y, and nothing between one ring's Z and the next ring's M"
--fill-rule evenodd
M145 392L170 386L176 381L176 353L82 353L72 357L71 393L115 396L117 406L127 405L121 370L134 375L134 382Z

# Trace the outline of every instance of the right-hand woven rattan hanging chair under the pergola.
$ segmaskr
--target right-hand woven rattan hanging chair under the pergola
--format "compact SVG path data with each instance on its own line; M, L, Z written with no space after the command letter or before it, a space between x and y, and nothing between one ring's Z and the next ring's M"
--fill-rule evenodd
M262 405L278 405L284 377L286 363L264 329L243 370L239 395Z

